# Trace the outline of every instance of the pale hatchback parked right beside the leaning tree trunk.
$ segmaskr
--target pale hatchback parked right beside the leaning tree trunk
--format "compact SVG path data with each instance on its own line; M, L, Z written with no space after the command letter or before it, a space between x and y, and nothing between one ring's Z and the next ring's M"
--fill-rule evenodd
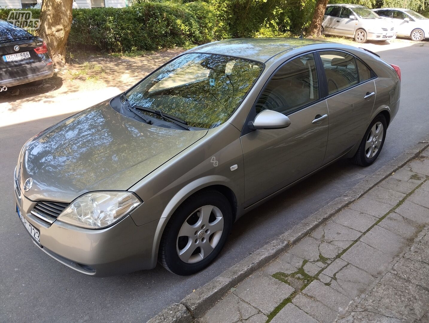
M322 21L323 34L352 37L356 42L396 37L392 21L381 18L367 7L340 3L326 6Z

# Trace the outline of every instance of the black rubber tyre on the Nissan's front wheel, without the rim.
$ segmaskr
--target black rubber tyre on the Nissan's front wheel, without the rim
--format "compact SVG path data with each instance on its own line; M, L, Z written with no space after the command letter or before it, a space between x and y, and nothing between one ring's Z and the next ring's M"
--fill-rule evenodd
M221 232L218 231L220 232L221 237L217 239L217 245L215 246L213 251L208 254L207 257L204 257L202 260L199 260L196 263L184 262L178 255L178 244L180 242L179 238L184 238L184 236L178 236L179 231L181 230L182 226L185 225L185 221L189 221L191 217L198 216L198 212L196 210L205 205L213 205L221 212L224 218L223 230L221 230ZM212 216L213 214L210 213L210 217ZM187 223L190 224L189 222ZM196 223L198 223L198 221ZM233 213L231 210L231 205L228 199L223 194L219 193L216 190L206 190L193 195L177 208L177 210L174 212L171 219L167 223L160 241L158 261L164 266L165 269L176 275L192 275L196 272L199 272L200 270L210 265L210 263L215 260L215 258L221 252L231 231L232 223ZM199 227L195 229L196 232L200 230ZM213 232L213 234L210 234L211 233L206 236L208 239L208 243L215 233ZM193 238L186 238L189 238L187 240L188 242L186 243L191 244L191 246L188 248L196 248L194 252L198 251L198 245L192 245L194 241L193 238L195 238L195 240L198 240L198 234ZM199 240L199 243L201 242L202 239ZM199 249L200 252L202 252L202 250L203 249ZM199 255L198 252L196 252L196 254Z

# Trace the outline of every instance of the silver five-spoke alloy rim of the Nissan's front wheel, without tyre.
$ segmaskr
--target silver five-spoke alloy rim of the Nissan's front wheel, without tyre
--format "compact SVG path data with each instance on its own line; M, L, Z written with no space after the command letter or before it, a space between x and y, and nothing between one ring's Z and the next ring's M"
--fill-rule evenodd
M181 226L176 251L184 263L198 263L208 257L221 240L224 216L214 205L195 210Z

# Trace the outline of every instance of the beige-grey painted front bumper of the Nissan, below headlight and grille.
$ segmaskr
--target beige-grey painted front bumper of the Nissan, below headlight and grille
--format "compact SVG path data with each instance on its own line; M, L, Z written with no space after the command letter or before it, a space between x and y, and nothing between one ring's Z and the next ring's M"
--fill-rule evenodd
M152 250L159 220L136 226L128 215L113 226L99 230L80 228L59 220L49 225L30 213L36 202L23 195L19 198L16 188L15 200L22 216L40 232L40 244L31 238L33 242L72 269L103 277L151 269L156 265Z

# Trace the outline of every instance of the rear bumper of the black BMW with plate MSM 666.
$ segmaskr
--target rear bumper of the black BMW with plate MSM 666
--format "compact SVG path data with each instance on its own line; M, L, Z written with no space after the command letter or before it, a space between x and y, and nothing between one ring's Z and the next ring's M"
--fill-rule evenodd
M49 65L48 65L49 64ZM0 70L0 86L15 86L50 78L54 75L51 59Z

